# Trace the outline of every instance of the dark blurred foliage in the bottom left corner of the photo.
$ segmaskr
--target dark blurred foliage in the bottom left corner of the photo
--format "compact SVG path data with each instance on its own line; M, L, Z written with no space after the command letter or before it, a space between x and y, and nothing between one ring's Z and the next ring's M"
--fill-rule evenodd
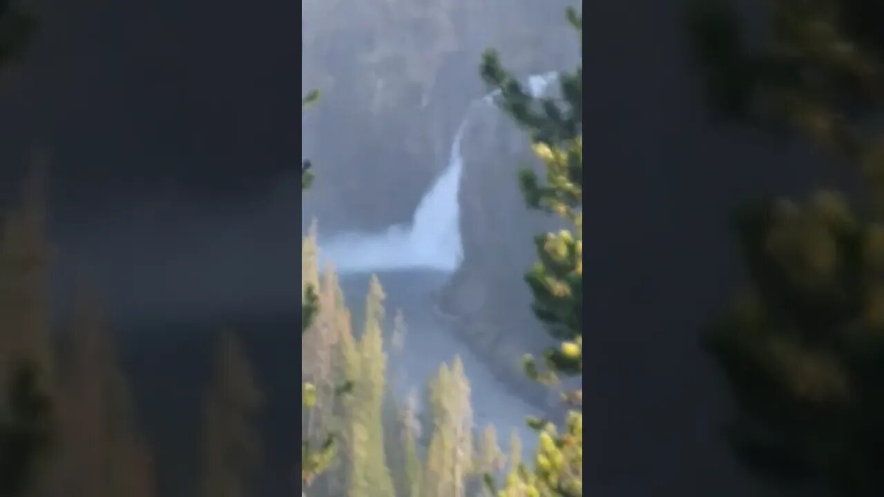
M55 448L55 413L34 364L14 368L0 414L0 496L21 495Z

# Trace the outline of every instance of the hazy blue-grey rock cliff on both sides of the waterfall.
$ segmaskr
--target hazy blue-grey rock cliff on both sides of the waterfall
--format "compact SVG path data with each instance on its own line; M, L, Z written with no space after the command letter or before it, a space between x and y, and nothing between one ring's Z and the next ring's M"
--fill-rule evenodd
M303 148L317 181L304 197L302 226L376 232L408 223L462 141L461 235L464 261L439 306L501 378L522 382L520 357L547 343L530 311L522 275L534 261L532 237L550 222L529 212L516 172L530 161L526 135L490 103L478 65L498 49L507 68L527 76L571 67L578 43L564 20L569 1L482 3L369 0L305 2L306 88L323 98L305 113Z

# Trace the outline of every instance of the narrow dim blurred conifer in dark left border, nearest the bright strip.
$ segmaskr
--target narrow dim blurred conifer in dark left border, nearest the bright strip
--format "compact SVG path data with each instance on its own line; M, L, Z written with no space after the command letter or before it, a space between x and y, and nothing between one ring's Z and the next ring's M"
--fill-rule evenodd
M247 497L261 463L255 417L263 395L245 351L230 331L221 333L202 423L202 495Z

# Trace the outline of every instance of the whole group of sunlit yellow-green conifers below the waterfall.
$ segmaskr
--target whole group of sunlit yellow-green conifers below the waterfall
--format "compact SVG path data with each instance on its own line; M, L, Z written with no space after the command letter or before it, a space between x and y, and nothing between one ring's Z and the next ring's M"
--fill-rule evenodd
M304 256L318 256L315 240L309 240L315 236L311 230L304 241L309 248ZM315 261L303 264L316 271ZM442 364L431 378L431 436L424 451L415 395L401 407L393 405L398 417L384 423L383 409L389 407L385 403L394 399L385 385L385 295L379 280L370 279L363 331L357 339L331 267L321 278L307 272L303 278L318 282L319 303L316 318L302 335L302 374L307 382L302 395L309 407L302 427L309 444L303 458L305 487L317 495L471 495L470 488L481 483L479 475L498 470L502 458L491 427L480 447L474 446L469 381L461 359ZM395 321L404 326L401 317ZM339 395L342 384L348 386L346 395Z

